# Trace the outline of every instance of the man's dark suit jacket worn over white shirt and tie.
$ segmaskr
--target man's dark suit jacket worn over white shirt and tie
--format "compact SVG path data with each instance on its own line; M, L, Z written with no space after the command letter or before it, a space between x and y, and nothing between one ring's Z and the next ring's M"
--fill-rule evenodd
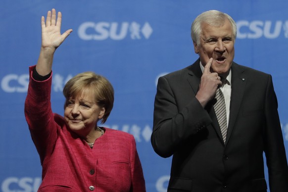
M160 77L154 103L152 146L173 155L168 191L266 192L263 151L271 192L288 192L288 166L271 75L232 64L226 145L212 101L195 95L199 59ZM222 191L223 190L223 191Z

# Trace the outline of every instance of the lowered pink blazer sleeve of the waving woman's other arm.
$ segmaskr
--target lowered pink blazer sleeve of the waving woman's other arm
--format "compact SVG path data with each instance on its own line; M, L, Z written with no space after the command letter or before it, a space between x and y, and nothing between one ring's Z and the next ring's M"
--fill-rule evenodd
M145 180L134 137L131 135L131 178L133 192L146 192Z

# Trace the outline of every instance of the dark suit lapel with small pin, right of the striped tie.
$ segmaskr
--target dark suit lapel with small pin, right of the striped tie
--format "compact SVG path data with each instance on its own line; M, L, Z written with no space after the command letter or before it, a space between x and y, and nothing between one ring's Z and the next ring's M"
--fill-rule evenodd
M247 77L244 74L244 69L240 65L233 62L231 70L232 70L232 79L231 79L232 91L231 91L230 117L229 117L226 144L229 143L230 136L233 132L234 125L240 110L242 98L244 95L244 88L247 82Z

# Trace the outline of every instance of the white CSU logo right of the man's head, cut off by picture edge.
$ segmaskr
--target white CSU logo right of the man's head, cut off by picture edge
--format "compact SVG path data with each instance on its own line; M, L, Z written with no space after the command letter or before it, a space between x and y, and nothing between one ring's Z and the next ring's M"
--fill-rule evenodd
M265 37L267 39L276 39L284 31L284 37L288 38L288 20L287 21L246 21L237 22L238 39L258 39Z

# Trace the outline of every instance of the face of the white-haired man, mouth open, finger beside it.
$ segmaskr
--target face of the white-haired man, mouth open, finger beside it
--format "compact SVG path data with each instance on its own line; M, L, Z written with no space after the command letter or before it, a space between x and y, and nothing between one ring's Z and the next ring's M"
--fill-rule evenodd
M207 23L202 24L200 45L193 42L195 53L199 54L203 66L213 58L211 72L219 75L229 71L234 59L234 43L232 26L226 19L221 27L212 27Z

